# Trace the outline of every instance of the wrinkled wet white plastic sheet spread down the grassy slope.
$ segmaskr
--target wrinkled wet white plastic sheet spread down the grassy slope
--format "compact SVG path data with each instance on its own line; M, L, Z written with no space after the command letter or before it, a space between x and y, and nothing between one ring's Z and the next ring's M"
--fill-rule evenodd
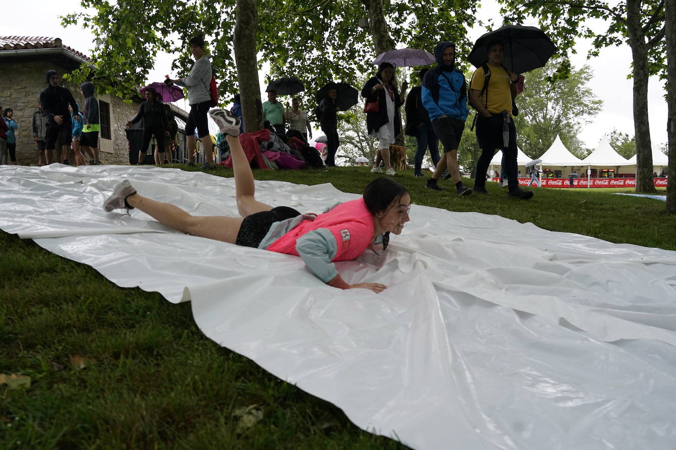
M234 180L154 167L0 167L0 228L117 285L192 302L210 339L416 449L673 449L676 252L413 205L385 260L321 283L299 258L105 213L122 179L197 215ZM258 181L318 212L330 184ZM413 199L415 201L415 199Z

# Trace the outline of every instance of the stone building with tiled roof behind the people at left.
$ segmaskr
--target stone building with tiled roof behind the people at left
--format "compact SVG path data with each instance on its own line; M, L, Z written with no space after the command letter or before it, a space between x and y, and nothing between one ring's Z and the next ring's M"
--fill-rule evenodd
M89 62L89 57L63 45L59 38L0 36L0 106L14 111L13 118L20 127L16 130L18 164L38 163L37 144L32 136L32 118L38 108L40 92L47 87L47 70L54 69L59 75L63 75L80 67L82 63ZM80 86L65 80L62 85L70 89L82 107L84 97ZM141 96L131 99L131 102L100 92L96 96L101 115L101 163L128 164L129 146L124 125L139 111ZM187 113L183 109L174 105L171 107L179 119L187 119ZM185 142L185 139L179 138L179 141ZM59 158L58 154L56 158ZM54 155L49 155L49 161L57 160Z

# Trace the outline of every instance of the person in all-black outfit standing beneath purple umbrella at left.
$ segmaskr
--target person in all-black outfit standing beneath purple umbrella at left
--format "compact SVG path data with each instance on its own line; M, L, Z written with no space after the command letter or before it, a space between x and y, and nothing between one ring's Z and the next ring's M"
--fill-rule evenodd
M169 122L164 104L158 101L158 93L153 88L144 88L145 102L141 103L139 113L126 123L127 128L143 119L143 138L139 149L139 164L143 163L145 151L150 145L151 136L155 135L155 164L164 161L164 136L169 136ZM162 155L160 155L162 153Z

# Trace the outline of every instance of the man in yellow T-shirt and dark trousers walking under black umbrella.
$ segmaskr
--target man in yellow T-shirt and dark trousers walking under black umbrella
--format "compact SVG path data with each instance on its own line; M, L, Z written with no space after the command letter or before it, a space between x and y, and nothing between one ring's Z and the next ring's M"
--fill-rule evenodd
M486 173L493 153L496 148L500 148L504 155L508 196L528 200L533 196L533 191L519 188L516 174L516 128L512 119L512 100L516 97L518 76L502 65L502 42L489 43L486 53L488 61L474 72L470 85L469 101L477 110L477 142L481 147L475 173ZM488 194L485 177L475 177L474 192Z

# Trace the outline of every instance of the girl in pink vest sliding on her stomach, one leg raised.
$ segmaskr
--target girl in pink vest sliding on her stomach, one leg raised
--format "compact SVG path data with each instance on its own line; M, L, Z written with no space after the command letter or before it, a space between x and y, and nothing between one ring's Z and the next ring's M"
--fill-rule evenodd
M288 206L273 208L254 198L254 174L239 144L239 119L230 111L209 113L226 135L235 171L235 198L242 217L193 216L170 203L139 195L129 181L116 186L103 208L139 208L178 231L199 237L300 256L316 277L341 289L364 288L381 292L380 283L346 283L335 261L354 260L377 244L387 247L389 233L400 234L410 220L411 196L401 184L387 178L371 181L364 196L339 204L320 215L301 215Z

